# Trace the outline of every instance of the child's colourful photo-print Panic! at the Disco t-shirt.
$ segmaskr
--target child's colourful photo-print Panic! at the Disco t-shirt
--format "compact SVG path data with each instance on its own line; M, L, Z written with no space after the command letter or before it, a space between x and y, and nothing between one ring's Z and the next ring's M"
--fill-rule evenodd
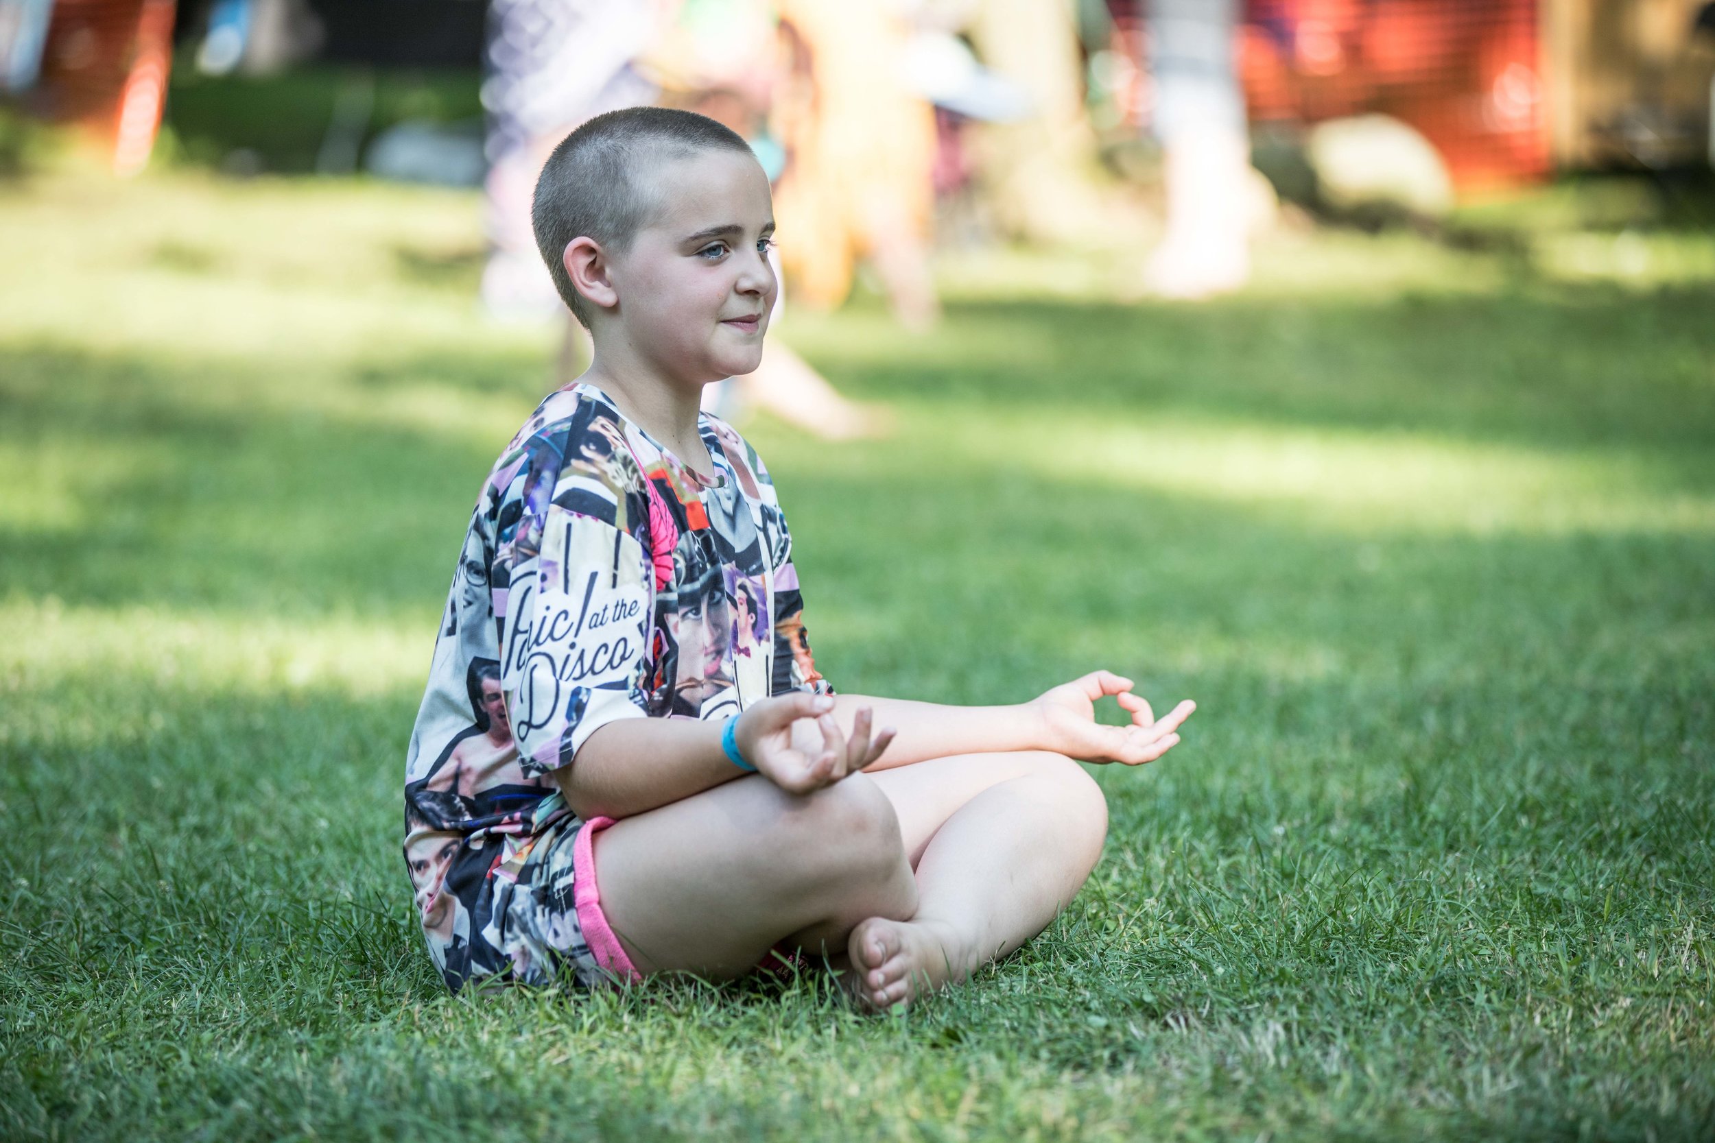
M484 937L494 879L576 826L547 775L599 727L828 689L767 470L724 422L698 430L713 480L569 386L482 487L405 763L405 859L453 989L511 973Z

